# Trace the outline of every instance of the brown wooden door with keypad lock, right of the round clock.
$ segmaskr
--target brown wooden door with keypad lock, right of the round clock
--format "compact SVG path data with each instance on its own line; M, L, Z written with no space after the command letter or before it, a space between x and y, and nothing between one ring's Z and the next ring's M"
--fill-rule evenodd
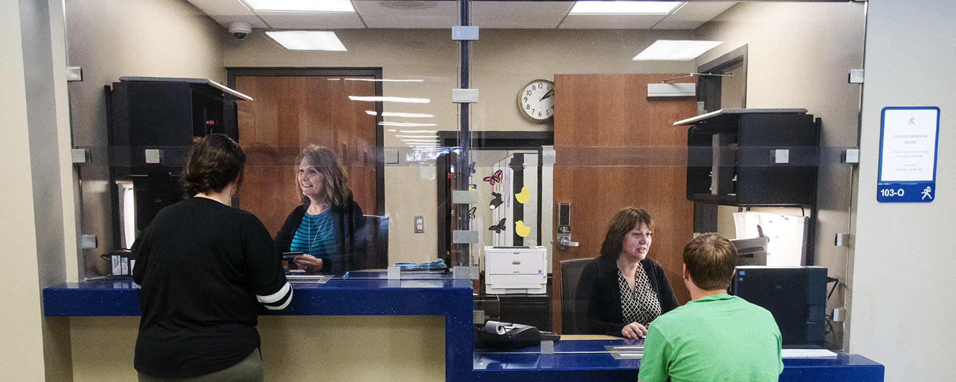
M656 228L648 257L661 263L678 301L689 300L682 253L693 236L693 204L685 197L686 129L673 123L695 116L697 102L646 97L648 83L680 76L554 76L554 227L556 205L570 203L571 239L580 243L553 247L555 330L561 328L560 261L597 258L611 216L627 206L651 214Z

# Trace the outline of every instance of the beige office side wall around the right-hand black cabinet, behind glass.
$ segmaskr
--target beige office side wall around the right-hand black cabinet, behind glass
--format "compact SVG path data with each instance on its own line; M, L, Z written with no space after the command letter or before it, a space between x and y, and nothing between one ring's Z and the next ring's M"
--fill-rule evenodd
M848 285L853 279L849 268L853 249L834 246L834 236L853 232L857 174L853 166L839 161L841 150L858 145L861 85L847 83L847 75L863 66L864 21L865 3L738 3L699 29L707 38L725 43L698 58L698 63L747 44L747 107L802 107L822 119L815 265L826 267L828 275L840 282L827 303L827 314L849 305ZM725 214L721 221L732 228L726 214L736 209L721 211ZM834 325L826 337L828 347L844 347L849 333L843 329Z

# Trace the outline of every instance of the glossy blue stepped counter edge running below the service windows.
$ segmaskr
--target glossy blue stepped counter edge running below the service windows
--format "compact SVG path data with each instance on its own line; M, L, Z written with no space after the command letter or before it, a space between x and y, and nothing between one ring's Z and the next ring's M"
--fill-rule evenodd
M473 370L470 280L333 280L293 284L293 303L262 315L445 316L445 380L515 381L637 380L637 369ZM47 317L139 316L139 290L131 281L64 282L43 289ZM786 359L780 381L882 381L883 367L856 354L841 354L840 365Z

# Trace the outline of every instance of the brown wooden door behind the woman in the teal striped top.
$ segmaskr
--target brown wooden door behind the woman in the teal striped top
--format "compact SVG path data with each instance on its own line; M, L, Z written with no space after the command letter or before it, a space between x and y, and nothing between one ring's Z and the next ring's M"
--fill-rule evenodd
M236 76L234 88L254 101L239 101L239 144L248 156L239 206L254 213L274 236L301 204L295 159L303 146L335 151L363 213L377 214L376 102L349 96L376 95L376 82L335 76ZM365 77L363 79L374 79Z

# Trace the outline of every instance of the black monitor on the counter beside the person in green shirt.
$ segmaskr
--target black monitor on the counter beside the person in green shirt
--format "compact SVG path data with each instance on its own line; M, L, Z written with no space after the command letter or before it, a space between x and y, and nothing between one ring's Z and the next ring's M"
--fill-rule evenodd
M738 266L729 293L770 310L784 348L823 348L827 268Z

